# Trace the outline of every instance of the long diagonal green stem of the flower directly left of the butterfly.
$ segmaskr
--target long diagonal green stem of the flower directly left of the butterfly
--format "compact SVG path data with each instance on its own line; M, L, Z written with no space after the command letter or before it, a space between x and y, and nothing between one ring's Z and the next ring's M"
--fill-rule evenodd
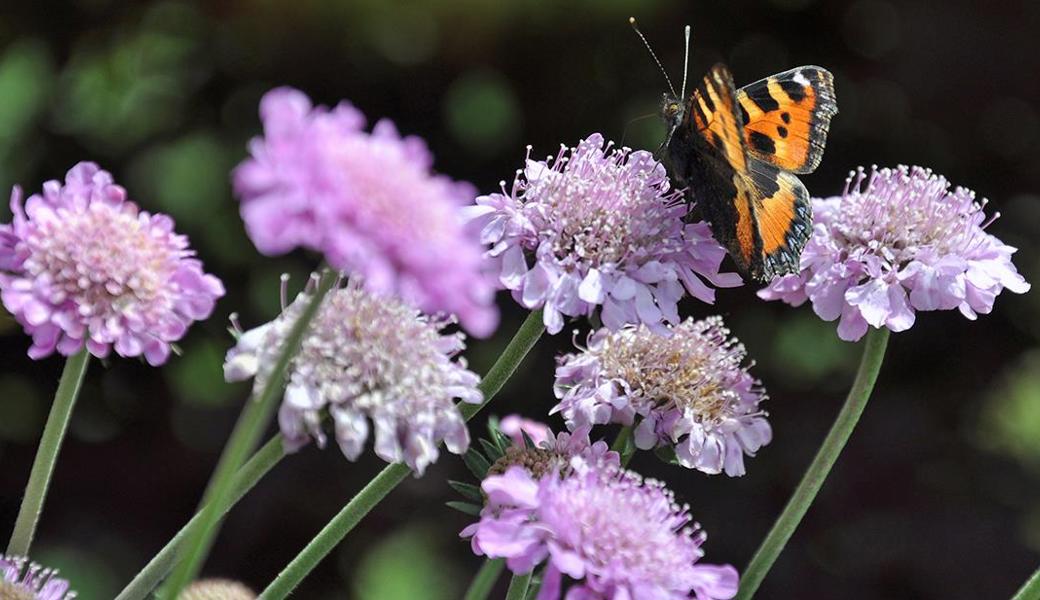
M480 381L479 390L484 393L484 401L479 405L460 403L459 412L467 421L473 418L484 407L488 406L495 394L502 389L505 382L516 371L517 367L535 342L542 337L545 325L542 324L542 311L534 311L520 325L509 345L502 350L488 374ZM347 502L346 506L329 521L321 531L289 563L278 577L260 594L260 600L281 600L288 596L303 581L318 563L324 558L355 526L379 504L405 477L409 469L400 463L394 463L384 468L367 486Z

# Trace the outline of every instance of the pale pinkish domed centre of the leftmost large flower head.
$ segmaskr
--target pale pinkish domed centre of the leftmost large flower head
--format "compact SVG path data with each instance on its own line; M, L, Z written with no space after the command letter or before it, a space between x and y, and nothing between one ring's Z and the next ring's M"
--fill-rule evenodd
M103 203L59 209L37 221L26 242L26 271L50 284L51 302L75 299L84 316L164 312L162 292L183 255L136 210Z

